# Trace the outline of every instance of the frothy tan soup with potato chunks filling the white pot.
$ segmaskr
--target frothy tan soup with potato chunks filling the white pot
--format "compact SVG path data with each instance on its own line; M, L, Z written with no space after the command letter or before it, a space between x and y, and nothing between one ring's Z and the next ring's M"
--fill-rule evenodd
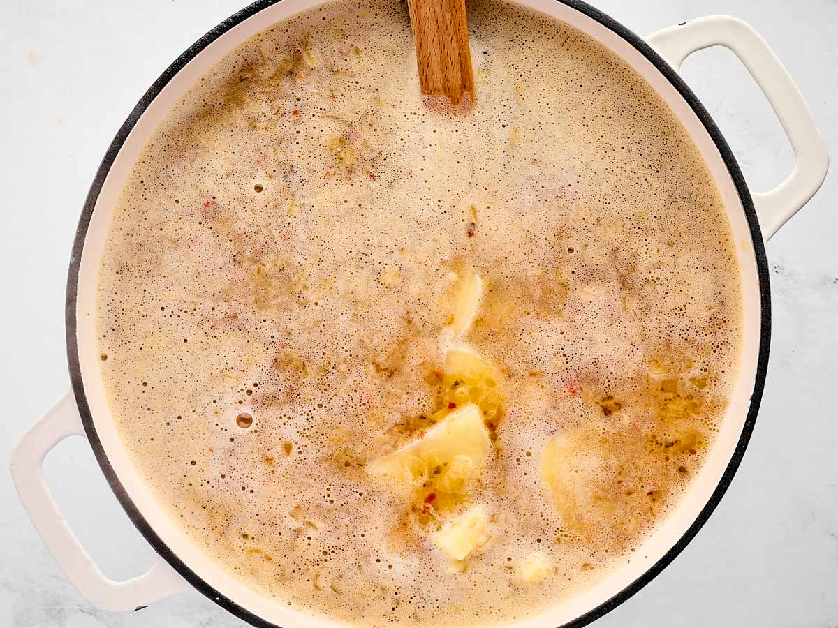
M282 605L525 619L630 560L737 369L711 175L634 70L468 6L476 103L419 93L406 4L257 34L130 174L101 369L158 501Z

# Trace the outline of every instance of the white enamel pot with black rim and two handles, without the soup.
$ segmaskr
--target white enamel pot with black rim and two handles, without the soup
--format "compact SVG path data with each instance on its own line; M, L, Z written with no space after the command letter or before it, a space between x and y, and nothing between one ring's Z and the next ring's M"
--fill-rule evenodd
M741 367L727 415L706 463L676 509L639 545L636 559L594 588L518 625L581 626L634 595L685 548L710 517L742 460L763 393L768 366L770 293L763 242L820 188L829 164L824 142L803 96L768 44L746 23L727 16L696 19L647 39L578 0L520 0L560 18L618 54L648 80L691 133L721 192L741 269ZM267 600L214 564L169 520L132 465L106 403L96 342L96 284L116 197L132 165L171 106L189 85L236 45L318 0L260 0L204 35L143 95L101 162L82 211L67 281L66 332L72 391L23 435L12 474L29 517L81 595L111 610L132 610L189 586L253 625L333 625ZM731 49L757 80L779 116L796 162L768 193L751 194L722 134L677 74L692 52ZM86 435L122 507L158 557L134 579L106 578L85 552L49 494L41 461L60 440ZM335 624L336 625L336 624Z

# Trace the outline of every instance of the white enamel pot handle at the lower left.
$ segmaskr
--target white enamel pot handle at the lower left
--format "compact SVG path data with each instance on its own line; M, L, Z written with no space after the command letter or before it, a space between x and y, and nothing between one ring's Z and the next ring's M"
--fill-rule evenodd
M68 436L85 436L73 394L67 393L12 450L11 470L23 507L49 552L81 595L107 610L139 610L186 589L184 579L159 556L145 574L117 582L102 574L70 529L44 481L44 456Z

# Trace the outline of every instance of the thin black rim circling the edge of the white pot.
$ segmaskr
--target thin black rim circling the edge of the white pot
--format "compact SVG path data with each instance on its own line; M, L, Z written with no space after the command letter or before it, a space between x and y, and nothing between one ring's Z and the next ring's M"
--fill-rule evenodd
M128 496L124 486L122 486L122 482L116 476L116 472L113 470L104 448L102 447L101 440L96 433L96 426L93 423L90 405L87 403L85 387L81 378L79 351L76 338L77 322L75 315L81 254L85 245L87 229L90 225L93 210L96 206L96 200L99 198L102 185L105 183L107 174L110 172L111 166L116 160L116 155L122 148L128 134L137 124L137 121L140 116L142 116L142 113L146 111L147 107L151 104L154 98L156 98L160 91L163 90L163 87L165 87L165 85L167 85L168 82L172 80L173 77L177 75L190 60L194 59L194 57L209 46L209 44L220 38L221 35L229 31L231 28L234 28L236 25L247 18L250 18L252 15L259 13L262 9L270 7L278 2L281 2L281 0L258 0L248 7L243 8L238 13L230 16L230 18L225 19L224 22L210 30L209 33L206 33L201 39L190 46L184 54L181 54L178 59L173 62L173 64L169 65L163 74L159 76L158 80L154 81L153 85L144 95L142 95L142 98L137 103L137 106L133 108L131 114L127 117L126 121L116 133L110 147L108 147L105 157L102 159L102 162L96 171L96 177L93 179L90 192L87 194L87 198L85 199L85 205L75 234L72 255L70 256L70 271L67 276L65 310L67 359L70 367L70 379L73 386L73 392L75 394L76 404L78 405L87 437L90 440L94 453L96 454L96 460L99 461L99 466L101 466L101 470L105 474L108 483L111 485L111 489L116 495L116 498L122 504L122 507L125 509L125 512L127 512L128 517L130 517L137 530L142 533L142 536L146 538L147 542L151 544L158 555L165 559L168 564L170 564L173 569L178 572L178 574L189 582L189 584L233 615L247 621L251 625L260 627L264 626L265 628L268 626L274 626L275 624L262 619L250 610L247 610L241 605L236 604L233 600L225 597L225 595L221 594L205 582L204 579L201 579L198 574L195 574L192 569L189 569L189 567L178 558L178 555L163 542L163 539L158 537L157 533L154 532L145 517L142 516L142 512L139 511L131 497ZM698 517L696 517L696 520L692 522L690 528L687 528L686 532L680 537L677 543L675 543L675 545L673 545L672 548L670 548L669 551L658 559L648 570L641 574L639 578L635 579L634 582L619 591L616 595L613 595L613 597L609 600L604 601L592 610L588 610L583 615L579 615L576 619L561 626L561 628L581 628L602 615L605 615L618 605L623 604L624 601L628 600L640 589L643 589L646 584L649 584L649 582L654 579L655 576L660 574L660 572L663 571L663 569L665 569L665 567L669 565L679 553L681 553L686 545L690 543L690 541L696 536L696 533L698 533L701 527L706 523L711 513L716 509L716 506L718 506L719 502L722 500L722 496L727 491L727 487L730 486L733 476L742 461L742 456L745 453L748 440L750 440L753 427L756 423L760 400L763 396L765 375L768 368L768 347L771 336L771 299L768 279L768 260L766 259L763 237L759 229L756 211L753 208L751 194L748 192L745 179L742 177L742 171L739 169L731 148L727 145L721 131L719 131L710 114L707 113L704 106L702 106L701 102L699 102L696 98L696 95L694 95L685 82L681 80L680 76L675 73L675 70L672 69L659 54L655 53L654 50L649 47L649 44L646 44L643 39L639 38L638 35L630 31L628 28L625 28L613 18L608 17L605 13L602 13L581 0L556 0L556 2L576 9L578 12L583 13L588 18L592 18L604 27L613 31L613 33L616 33L619 37L628 41L629 44L639 51L640 54L643 54L646 59L649 59L649 61L654 64L654 67L657 68L660 73L675 86L675 89L678 90L687 104L691 106L691 109L696 113L696 116L698 116L699 120L704 125L707 133L711 136L712 141L715 143L716 148L722 156L722 160L725 163L725 166L731 175L733 184L737 189L739 199L742 202L742 208L745 211L757 263L761 312L758 362L751 402L747 411L745 424L742 427L742 434L739 436L739 440L735 450L733 451L731 460L728 462L727 468L722 474L722 478L716 486L716 489L713 491L709 501L701 509L701 512L698 514Z

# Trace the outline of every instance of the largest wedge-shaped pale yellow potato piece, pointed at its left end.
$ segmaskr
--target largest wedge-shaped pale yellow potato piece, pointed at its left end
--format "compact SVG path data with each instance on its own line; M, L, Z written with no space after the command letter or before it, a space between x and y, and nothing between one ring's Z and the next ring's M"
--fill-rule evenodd
M467 404L448 414L422 438L370 462L367 471L416 481L439 466L456 471L458 478L472 477L491 449L480 409Z

